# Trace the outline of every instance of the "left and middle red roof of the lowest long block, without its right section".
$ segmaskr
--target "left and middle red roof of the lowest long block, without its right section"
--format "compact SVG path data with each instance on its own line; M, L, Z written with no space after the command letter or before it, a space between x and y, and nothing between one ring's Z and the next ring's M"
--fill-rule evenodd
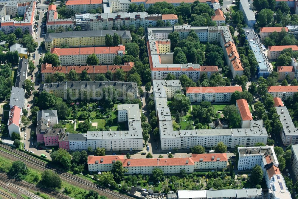
M103 159L103 162L100 160ZM137 158L137 159L124 159L123 156L115 155L105 155L105 156L88 156L88 164L95 164L95 161L98 161L98 164L111 164L112 161L119 160L122 162L123 166L175 166L175 165L195 165L192 158ZM188 163L187 163L188 161ZM129 162L129 163L128 163Z

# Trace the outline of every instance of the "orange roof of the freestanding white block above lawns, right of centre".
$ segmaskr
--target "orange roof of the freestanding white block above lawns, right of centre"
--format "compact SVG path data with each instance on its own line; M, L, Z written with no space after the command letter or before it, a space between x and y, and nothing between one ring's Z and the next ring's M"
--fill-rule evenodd
M186 93L234 93L242 92L241 86L207 86L207 87L186 87Z

